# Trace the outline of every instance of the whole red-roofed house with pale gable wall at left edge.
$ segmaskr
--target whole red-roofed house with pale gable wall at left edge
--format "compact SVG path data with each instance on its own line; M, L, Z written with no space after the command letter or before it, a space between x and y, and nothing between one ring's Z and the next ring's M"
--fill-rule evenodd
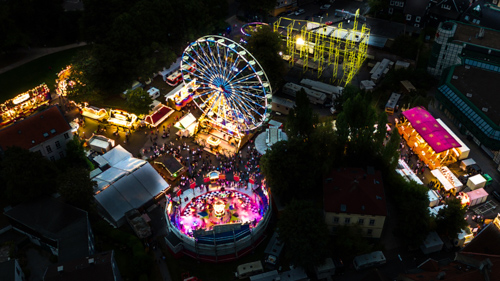
M11 146L39 152L55 161L66 155L73 129L58 105L33 114L0 131L0 153Z

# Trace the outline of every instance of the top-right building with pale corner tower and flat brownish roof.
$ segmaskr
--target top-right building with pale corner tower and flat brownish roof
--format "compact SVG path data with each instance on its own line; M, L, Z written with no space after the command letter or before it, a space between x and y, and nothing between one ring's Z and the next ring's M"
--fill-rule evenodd
M439 77L446 68L459 64L495 70L500 65L499 37L498 30L456 21L442 22L427 71Z

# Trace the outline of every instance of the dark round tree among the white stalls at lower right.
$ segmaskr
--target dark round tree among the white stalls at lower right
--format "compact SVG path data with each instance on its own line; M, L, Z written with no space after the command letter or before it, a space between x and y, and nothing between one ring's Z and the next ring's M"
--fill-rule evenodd
M462 205L460 199L448 198L446 207L439 210L436 217L437 232L451 239L457 238L458 233L467 226L464 220L467 207Z

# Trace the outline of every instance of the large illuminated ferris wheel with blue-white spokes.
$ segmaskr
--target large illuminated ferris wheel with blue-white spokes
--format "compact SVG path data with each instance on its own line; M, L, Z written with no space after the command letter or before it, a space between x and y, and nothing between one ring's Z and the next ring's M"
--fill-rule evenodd
M211 35L192 42L182 55L181 71L202 117L211 123L249 132L269 117L272 91L267 75L233 40Z

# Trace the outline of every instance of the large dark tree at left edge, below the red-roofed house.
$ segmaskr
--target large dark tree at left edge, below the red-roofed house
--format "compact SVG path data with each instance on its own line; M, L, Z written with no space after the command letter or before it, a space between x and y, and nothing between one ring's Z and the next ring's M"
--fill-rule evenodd
M2 157L0 175L5 196L12 204L27 202L56 191L54 163L39 152L9 147Z

